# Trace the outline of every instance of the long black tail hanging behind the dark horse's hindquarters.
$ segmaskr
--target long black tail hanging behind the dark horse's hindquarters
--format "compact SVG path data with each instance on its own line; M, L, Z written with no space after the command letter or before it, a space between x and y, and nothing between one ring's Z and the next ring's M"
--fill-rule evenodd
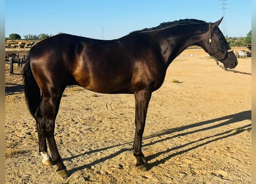
M26 104L28 105L28 109L32 114L32 116L35 117L36 110L39 107L41 102L41 93L40 93L40 88L36 83L35 77L30 67L30 57L32 52L33 52L33 47L30 49L28 53L25 66L22 70L22 78L24 81Z

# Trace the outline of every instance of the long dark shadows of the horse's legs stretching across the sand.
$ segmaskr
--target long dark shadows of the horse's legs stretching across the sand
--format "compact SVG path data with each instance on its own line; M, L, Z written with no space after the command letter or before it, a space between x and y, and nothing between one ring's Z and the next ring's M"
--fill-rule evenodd
M224 117L214 118L212 120L197 122L197 123L186 125L186 126L183 126L183 127L167 129L167 130L164 130L162 132L158 132L158 133L154 133L154 134L149 135L149 136L145 136L145 137L143 137L143 140L152 139L154 137L159 138L161 136L167 136L167 137L165 137L164 139L151 141L150 143L144 144L143 147L147 147L149 145L154 145L156 143L161 143L163 141L174 139L175 137L185 136L185 135L189 135L189 134L193 134L193 133L197 133L197 132L201 132L201 131L207 131L207 130L210 130L210 129L215 129L215 128L226 126L226 125L229 125L229 124L234 124L235 122L239 122L239 121L243 121L243 120L251 120L251 110L231 114L231 115L224 116ZM219 124L211 125L216 121L223 121L223 122L221 122ZM193 128L201 127L201 126L204 126L204 125L210 125L210 126L209 127L202 127L200 129L193 130ZM192 129L192 130L188 131L188 129ZM185 131L185 130L187 132L178 133L176 135L173 135L173 133L182 132L182 131ZM212 142L217 141L217 140L226 139L227 137L238 135L239 133L241 133L243 131L251 131L251 124L247 124L247 125L244 125L242 127L236 128L235 131L234 130L227 130L227 131L224 131L224 132L221 132L221 133L217 133L215 135L209 135L209 136L206 136L206 137L201 137L201 139L199 139L199 140L190 141L190 142L185 143L183 145L178 145L177 147L169 148L165 151L159 151L156 154L149 155L149 156L146 157L146 159L148 161L153 160L155 158L159 158L159 156L161 156L161 155L166 155L167 153L174 152L171 155L165 156L165 158L163 158L163 159L156 159L155 162L148 163L147 164L148 170L150 170L154 166L158 166L159 164L165 163L167 160L173 158L174 156L184 154L185 152L194 150L198 147L202 147L204 145L207 145L207 144L212 143ZM202 142L202 141L204 141L204 142ZM108 150L108 149L114 148L114 147L119 147L119 146L123 147L124 145L129 145L129 147L131 147L131 148L121 148L121 150L119 150L117 152L114 152L113 154L110 154L110 155L105 156L103 158L100 158L98 160L95 160L94 162L92 162L90 164L84 164L83 166L74 167L70 171L68 171L69 174L72 175L76 171L83 170L84 168L90 169L91 166L94 166L95 164L104 162L105 160L112 159L112 158L122 154L125 151L132 151L132 146L131 146L132 143L133 142L127 142L127 143L123 143L123 144L112 145L110 147L99 148L97 150L91 150L91 151L88 151L88 152L84 152L83 154L74 155L74 156L71 156L69 158L63 158L63 161L64 160L72 160L74 158L78 158L78 157L81 157L81 156L84 156L84 155L90 155L90 154L93 154L95 152L105 151L105 150ZM194 145L194 146L189 147L189 148L186 148L185 150L182 150L182 148L188 147L188 145L192 145L194 143L199 143L199 144Z

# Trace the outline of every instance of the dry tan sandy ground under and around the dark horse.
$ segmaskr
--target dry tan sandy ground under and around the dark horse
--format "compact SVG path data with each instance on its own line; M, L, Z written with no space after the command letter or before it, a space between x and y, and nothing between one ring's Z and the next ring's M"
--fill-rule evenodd
M251 73L251 58L238 62ZM5 183L251 183L251 75L221 70L204 51L185 50L152 94L144 172L134 168L133 95L67 87L55 129L62 179L41 163L21 75L6 71L5 83Z

